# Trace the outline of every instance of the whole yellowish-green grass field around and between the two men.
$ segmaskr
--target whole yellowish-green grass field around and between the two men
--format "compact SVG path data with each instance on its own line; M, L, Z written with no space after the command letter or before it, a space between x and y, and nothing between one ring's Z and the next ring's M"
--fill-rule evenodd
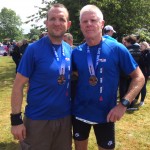
M15 65L11 57L0 57L0 150L17 150L18 147L10 133L10 96L14 77ZM126 112L116 123L116 150L150 150L150 81L147 91L145 105L138 111ZM89 150L97 150L93 131Z

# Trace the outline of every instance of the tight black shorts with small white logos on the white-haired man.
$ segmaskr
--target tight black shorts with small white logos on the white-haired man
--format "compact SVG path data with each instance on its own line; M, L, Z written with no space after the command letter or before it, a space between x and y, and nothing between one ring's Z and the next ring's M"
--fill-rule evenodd
M83 141L88 139L93 126L97 144L105 149L115 148L115 125L113 122L91 125L73 117L72 123L74 140Z

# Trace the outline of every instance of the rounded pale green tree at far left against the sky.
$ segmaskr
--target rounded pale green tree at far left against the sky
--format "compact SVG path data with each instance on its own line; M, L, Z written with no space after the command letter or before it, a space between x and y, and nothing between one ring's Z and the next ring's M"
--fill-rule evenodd
M16 13L7 8L3 8L0 12L0 38L10 38L12 40L22 39L21 19Z

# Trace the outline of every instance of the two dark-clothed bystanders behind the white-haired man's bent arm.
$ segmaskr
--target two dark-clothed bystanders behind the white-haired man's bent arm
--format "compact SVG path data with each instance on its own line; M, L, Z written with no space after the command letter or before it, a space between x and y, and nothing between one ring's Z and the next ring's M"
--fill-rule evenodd
M130 107L128 108L128 110L130 109L132 110L134 108L135 103L137 103L140 95L141 96L140 96L139 106L144 105L144 100L146 96L146 84L150 76L150 46L147 42L137 43L137 39L134 35L128 35L124 37L122 43L127 47L127 49L129 50L132 57L139 65L145 77L145 84L143 88L141 89L140 93L137 95L137 97L134 99L134 101L131 103ZM126 76L123 72L121 73L120 98L122 98L124 93L127 91L130 80L131 79L129 76Z

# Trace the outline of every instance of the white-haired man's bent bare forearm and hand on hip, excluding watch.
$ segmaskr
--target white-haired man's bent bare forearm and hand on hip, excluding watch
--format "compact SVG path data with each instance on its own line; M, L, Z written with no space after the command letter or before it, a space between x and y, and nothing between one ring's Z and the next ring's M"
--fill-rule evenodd
M145 78L139 67L137 67L130 74L130 77L132 78L132 80L129 85L129 89L124 96L124 99L129 100L129 102L131 103L142 89L145 82ZM123 106L121 102L119 102L119 104L108 113L107 122L116 122L120 120L121 117L124 115L126 109L127 108Z

